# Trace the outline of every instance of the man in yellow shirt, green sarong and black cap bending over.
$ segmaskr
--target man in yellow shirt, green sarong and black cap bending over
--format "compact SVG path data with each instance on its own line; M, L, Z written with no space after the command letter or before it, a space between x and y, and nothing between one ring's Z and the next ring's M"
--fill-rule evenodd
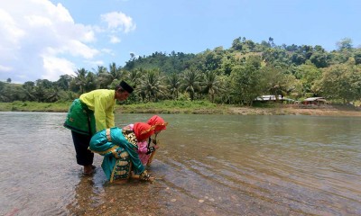
M71 103L64 127L71 130L77 163L84 166L84 174L92 174L95 168L94 154L88 150L91 137L97 131L115 126L116 100L126 100L133 90L132 86L122 81L115 90L97 89L81 94Z

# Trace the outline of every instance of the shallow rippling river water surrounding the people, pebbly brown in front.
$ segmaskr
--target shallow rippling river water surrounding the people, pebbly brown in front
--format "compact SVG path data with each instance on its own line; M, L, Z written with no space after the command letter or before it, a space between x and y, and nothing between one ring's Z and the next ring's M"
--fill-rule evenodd
M0 112L0 215L361 214L360 118L162 115L157 180L114 185L100 156L81 175L65 115Z

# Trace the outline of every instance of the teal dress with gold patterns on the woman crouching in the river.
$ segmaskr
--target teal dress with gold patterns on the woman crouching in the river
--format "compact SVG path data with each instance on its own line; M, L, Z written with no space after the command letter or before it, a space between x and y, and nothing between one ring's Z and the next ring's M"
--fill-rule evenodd
M127 179L131 170L135 175L144 171L137 153L137 139L133 130L117 127L98 131L90 140L89 149L104 156L102 168L110 182Z

